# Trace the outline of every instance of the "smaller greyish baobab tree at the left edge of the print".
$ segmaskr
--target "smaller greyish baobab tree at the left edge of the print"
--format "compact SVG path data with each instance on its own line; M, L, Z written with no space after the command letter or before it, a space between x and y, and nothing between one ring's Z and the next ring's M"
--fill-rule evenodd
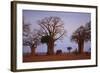
M35 55L35 49L40 44L40 38L34 30L31 32L30 24L23 24L23 45L30 46L31 54Z

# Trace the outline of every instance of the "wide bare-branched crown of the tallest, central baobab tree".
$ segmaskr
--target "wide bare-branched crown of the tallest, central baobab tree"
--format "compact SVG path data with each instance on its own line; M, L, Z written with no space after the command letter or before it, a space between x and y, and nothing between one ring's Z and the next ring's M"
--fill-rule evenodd
M60 39L64 34L63 21L56 16L45 17L38 21L43 36L50 36L55 41Z

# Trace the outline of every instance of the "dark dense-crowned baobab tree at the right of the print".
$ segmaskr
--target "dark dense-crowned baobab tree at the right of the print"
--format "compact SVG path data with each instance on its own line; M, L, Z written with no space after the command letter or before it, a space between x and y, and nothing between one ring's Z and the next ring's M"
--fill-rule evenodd
M90 22L86 26L80 26L71 36L71 40L78 43L79 53L83 53L84 42L91 39Z

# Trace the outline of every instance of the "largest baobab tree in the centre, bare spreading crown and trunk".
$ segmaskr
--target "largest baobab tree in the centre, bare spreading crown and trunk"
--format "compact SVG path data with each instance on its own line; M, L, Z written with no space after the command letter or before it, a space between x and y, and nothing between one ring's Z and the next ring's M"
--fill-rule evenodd
M61 18L56 16L45 17L39 20L38 24L42 33L41 42L47 44L47 53L53 54L55 41L61 39L65 34L64 24Z

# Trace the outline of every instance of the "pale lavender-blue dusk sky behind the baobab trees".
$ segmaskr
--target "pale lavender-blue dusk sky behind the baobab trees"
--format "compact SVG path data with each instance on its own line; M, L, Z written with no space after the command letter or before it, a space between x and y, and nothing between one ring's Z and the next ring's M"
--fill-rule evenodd
M62 52L67 52L67 47L71 46L73 50L77 48L77 43L70 41L70 36L72 33L79 28L81 25L85 26L87 22L91 20L90 13L78 13L78 12L55 12L55 11L36 11L36 10L23 10L23 19L25 24L31 24L31 31L34 29L39 29L37 24L38 20L45 17L57 16L61 18L64 23L64 29L67 31L63 40L58 40L55 42L56 46L54 51L57 49L62 49ZM91 48L91 43L85 42L84 50L87 51ZM27 47L24 48L24 52L30 52ZM47 52L46 44L41 44L37 47L36 52Z

